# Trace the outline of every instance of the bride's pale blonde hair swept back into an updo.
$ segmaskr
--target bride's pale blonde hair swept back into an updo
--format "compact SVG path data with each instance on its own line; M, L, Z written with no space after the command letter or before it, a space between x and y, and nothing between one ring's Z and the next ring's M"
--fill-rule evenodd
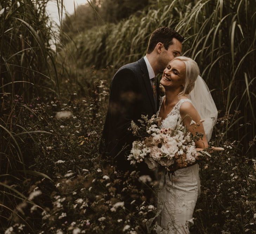
M186 66L185 85L184 85L183 91L179 93L179 96L182 96L184 94L189 94L192 91L192 89L195 87L196 79L200 74L199 67L197 63L191 58L188 58L185 56L178 56L173 60L175 59L183 61Z

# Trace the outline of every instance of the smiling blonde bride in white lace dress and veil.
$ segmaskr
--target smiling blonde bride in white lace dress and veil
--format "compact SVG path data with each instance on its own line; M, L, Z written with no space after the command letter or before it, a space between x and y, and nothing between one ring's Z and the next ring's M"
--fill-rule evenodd
M184 56L176 57L164 69L160 83L165 88L157 112L161 128L174 129L183 123L193 135L203 134L202 140L195 142L197 150L208 148L217 109L199 76L197 63ZM197 127L193 123L198 123ZM171 181L165 175L164 193L158 194L163 203L157 217L157 233L190 233L189 227L193 225L193 211L200 194L199 165L175 169Z

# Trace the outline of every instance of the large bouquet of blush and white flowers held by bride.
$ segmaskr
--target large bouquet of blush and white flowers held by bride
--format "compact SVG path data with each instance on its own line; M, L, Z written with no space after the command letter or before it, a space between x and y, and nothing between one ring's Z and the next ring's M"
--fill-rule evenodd
M202 138L203 134L192 134L182 125L176 126L174 130L170 128L159 128L155 115L151 119L142 115L139 120L140 125L132 121L131 128L133 134L139 139L133 141L130 155L127 157L131 164L145 162L150 169L156 169L160 165L169 171L171 165L179 168L186 167L196 161L198 154L210 154L206 151L196 151L195 141ZM197 124L191 121L191 127Z

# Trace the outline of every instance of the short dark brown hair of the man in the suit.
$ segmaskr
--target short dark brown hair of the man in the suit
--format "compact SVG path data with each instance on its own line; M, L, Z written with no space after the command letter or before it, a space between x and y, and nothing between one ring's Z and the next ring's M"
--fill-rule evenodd
M169 46L172 45L173 38L176 38L180 43L184 41L184 36L180 35L172 28L157 28L150 36L149 45L147 46L147 54L150 54L155 49L158 42L163 43L164 48L168 49Z

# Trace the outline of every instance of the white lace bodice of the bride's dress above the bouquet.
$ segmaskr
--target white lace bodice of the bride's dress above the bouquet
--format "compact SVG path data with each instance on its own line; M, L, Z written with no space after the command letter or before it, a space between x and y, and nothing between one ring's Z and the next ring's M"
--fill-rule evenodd
M160 100L159 109L157 111L157 117L159 116L159 112L160 112L164 98L165 98L165 96L163 96ZM187 99L187 98L180 99L176 103L176 105L172 108L170 113L166 116L166 118L162 121L161 128L175 129L175 127L180 124L180 122L182 121L182 118L180 116L179 109L180 109L180 106L182 105L182 103L184 103L186 101L192 103L190 99Z

